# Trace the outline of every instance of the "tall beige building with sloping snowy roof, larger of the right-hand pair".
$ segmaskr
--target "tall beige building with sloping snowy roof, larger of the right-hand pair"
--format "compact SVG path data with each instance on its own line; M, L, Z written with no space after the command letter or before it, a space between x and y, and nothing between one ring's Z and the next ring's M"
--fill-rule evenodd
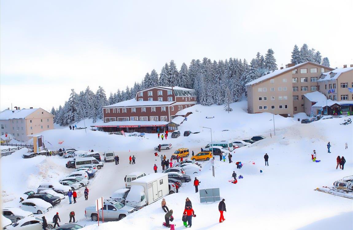
M313 62L290 63L247 83L248 113L293 116L304 112L304 94L317 91L321 74L332 70Z

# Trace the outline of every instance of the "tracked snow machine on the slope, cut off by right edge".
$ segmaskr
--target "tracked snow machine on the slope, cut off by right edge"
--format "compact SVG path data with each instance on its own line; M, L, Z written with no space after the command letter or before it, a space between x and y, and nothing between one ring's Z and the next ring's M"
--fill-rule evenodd
M353 175L346 176L343 177L342 180L335 181L333 183L333 187L323 186L322 188L316 188L315 190L335 196L353 199Z

